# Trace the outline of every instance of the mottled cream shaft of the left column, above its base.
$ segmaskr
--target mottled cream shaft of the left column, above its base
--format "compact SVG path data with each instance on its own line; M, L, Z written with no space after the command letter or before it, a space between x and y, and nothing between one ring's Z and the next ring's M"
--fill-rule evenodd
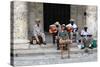
M14 38L27 39L27 3L14 2Z

